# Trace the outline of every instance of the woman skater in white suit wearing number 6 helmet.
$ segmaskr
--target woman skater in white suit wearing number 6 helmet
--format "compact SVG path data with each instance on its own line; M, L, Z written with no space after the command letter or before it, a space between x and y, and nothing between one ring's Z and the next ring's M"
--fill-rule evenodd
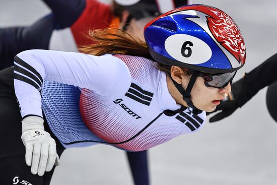
M102 143L143 151L196 132L245 63L238 26L209 6L159 16L145 26L146 43L118 29L91 35L96 44L82 49L87 54L27 50L16 55L14 70L1 72L5 183L15 176L49 182L64 148ZM238 52L221 36L236 39ZM14 82L15 92L7 81Z

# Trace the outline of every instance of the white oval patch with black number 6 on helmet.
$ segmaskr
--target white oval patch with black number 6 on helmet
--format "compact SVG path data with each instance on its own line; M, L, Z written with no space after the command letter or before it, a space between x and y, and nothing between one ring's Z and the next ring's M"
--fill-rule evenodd
M165 49L170 56L187 64L201 64L212 56L209 45L191 35L176 34L168 37Z

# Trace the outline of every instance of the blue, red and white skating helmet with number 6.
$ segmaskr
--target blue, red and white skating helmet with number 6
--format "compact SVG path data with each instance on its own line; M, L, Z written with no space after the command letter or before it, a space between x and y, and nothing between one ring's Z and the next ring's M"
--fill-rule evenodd
M144 36L159 63L208 73L230 73L245 63L242 34L225 12L189 5L149 22Z

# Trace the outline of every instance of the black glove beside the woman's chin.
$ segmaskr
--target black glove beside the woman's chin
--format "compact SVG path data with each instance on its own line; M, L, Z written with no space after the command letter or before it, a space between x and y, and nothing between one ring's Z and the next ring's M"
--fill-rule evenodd
M241 78L239 81L231 84L232 92L228 94L225 100L221 101L221 103L217 106L217 108L213 112L217 112L222 110L221 112L217 113L213 117L210 118L210 122L219 121L229 115L231 115L238 107L242 105L238 101L239 96L241 95L243 86L245 83L245 78ZM213 112L206 112L207 115Z

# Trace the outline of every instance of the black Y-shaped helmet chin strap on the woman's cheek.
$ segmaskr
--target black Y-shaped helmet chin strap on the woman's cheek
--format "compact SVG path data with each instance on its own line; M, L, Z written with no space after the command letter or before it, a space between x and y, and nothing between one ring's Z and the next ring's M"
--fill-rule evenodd
M188 85L187 85L187 88L186 90L183 88L183 86L181 84L178 84L177 82L175 82L175 80L173 80L173 78L171 77L171 75L169 74L174 86L177 88L177 90L183 95L183 100L187 103L187 105L189 107L191 107L193 110L192 110L192 113L193 114L199 114L202 112L202 110L199 110L198 108L196 108L192 101L191 101L191 95L190 95L190 92L191 92L191 89L198 77L198 74L199 72L198 71L193 71L192 75L191 75L191 78L188 82ZM183 110L183 105L181 107L181 109Z

